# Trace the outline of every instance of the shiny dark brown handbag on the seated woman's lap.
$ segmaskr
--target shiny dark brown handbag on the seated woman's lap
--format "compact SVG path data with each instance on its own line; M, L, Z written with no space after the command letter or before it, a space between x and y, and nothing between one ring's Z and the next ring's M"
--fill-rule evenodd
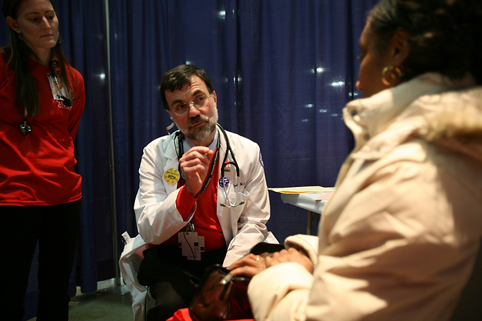
M207 267L189 305L189 314L194 321L253 318L247 294L251 278L228 274L229 269L221 265Z

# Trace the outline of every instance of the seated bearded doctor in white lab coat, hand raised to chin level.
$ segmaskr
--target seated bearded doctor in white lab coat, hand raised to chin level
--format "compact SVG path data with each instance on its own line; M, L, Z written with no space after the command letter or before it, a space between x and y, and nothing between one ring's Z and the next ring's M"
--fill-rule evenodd
M179 131L148 144L140 164L139 236L120 261L136 320L143 318L145 298L138 283L156 300L147 320L165 320L189 305L205 267L227 267L259 242L277 243L266 230L270 206L260 147L217 124L216 91L205 71L179 65L163 76L160 91Z

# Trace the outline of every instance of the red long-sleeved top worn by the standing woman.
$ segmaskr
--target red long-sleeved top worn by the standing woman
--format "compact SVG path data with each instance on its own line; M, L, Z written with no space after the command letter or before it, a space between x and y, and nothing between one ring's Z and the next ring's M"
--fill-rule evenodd
M50 68L28 61L41 103L29 118L32 133L23 136L15 101L15 75L0 58L0 206L46 206L81 199L81 175L75 173L74 140L85 103L81 74L67 67L75 100L59 107L47 79Z

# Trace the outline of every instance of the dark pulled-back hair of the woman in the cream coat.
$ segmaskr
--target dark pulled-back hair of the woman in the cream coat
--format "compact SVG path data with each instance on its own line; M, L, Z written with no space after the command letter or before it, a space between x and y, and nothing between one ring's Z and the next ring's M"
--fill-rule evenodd
M367 32L383 52L399 28L410 34L403 80L428 71L450 78L470 72L482 83L481 0L383 0L368 13Z

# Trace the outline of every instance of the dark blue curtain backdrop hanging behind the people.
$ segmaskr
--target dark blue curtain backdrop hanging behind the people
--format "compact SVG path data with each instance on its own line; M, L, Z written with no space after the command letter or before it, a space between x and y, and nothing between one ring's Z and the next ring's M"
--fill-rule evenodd
M166 134L160 78L199 65L218 94L219 122L257 142L269 187L333 186L353 148L342 108L355 89L358 39L377 0L109 0L118 235L112 233L103 1L55 0L67 57L85 80L76 140L83 176L82 228L72 291L114 277L112 238L137 234L134 197L143 147ZM0 45L8 45L1 25ZM0 155L1 157L1 155ZM306 232L306 211L270 192L269 230ZM317 221L313 234L317 232ZM122 246L119 251L122 250ZM25 298L36 306L36 263ZM73 294L73 292L71 293Z

